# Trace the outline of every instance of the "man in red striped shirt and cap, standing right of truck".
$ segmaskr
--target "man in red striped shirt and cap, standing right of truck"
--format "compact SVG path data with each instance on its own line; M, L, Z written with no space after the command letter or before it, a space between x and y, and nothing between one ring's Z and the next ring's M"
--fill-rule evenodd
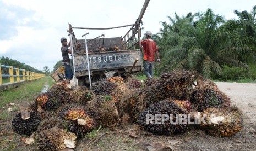
M154 65L155 65L155 54L157 56L157 62L160 63L159 54L156 42L151 39L151 31L146 32L146 39L141 40L141 45L143 46L144 54L144 72L146 77L152 78L154 75Z

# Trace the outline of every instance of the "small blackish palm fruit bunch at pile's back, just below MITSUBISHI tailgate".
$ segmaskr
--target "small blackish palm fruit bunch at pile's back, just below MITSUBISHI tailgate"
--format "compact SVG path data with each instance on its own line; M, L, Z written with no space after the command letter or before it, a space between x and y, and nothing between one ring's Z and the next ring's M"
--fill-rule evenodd
M115 83L108 82L106 78L102 78L92 83L92 90L97 95L110 95L116 88L117 85Z

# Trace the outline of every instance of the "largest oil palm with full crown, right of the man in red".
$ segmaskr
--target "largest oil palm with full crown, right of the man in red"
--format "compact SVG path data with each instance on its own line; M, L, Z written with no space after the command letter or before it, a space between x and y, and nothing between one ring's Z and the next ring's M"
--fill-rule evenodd
M179 19L169 27L172 29L169 33L160 34L168 35L164 37L166 39L159 40L160 44L166 43L167 39L167 42L175 42L168 42L171 44L168 47L161 46L167 48L162 52L162 60L172 63L172 66L162 69L186 68L210 78L213 74L222 74L221 65L249 68L242 59L251 54L252 49L245 45L247 39L237 32L235 21L225 22L224 16L214 14L211 9L196 13L193 17L197 17L197 20ZM173 30L177 26L179 30Z

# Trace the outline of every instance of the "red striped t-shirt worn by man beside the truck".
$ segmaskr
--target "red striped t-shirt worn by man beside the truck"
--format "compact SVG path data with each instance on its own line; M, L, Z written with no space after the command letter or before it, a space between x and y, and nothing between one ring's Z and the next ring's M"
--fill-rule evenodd
M144 60L154 62L155 52L157 52L156 42L152 39L141 40L143 46Z

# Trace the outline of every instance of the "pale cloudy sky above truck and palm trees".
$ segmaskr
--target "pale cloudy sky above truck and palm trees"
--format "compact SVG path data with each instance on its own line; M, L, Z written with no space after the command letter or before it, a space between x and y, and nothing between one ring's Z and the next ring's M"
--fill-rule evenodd
M0 0L0 56L9 57L43 71L50 71L62 60L62 37L68 38L68 24L72 27L116 27L134 24L145 0ZM252 11L255 0L150 0L143 16L144 30L153 34L162 27L160 21L170 23L175 12L186 16L189 12L204 13L211 8L225 19L237 19L233 10ZM102 33L105 37L121 37L130 27L114 30L74 29L77 39L89 32L87 38Z

